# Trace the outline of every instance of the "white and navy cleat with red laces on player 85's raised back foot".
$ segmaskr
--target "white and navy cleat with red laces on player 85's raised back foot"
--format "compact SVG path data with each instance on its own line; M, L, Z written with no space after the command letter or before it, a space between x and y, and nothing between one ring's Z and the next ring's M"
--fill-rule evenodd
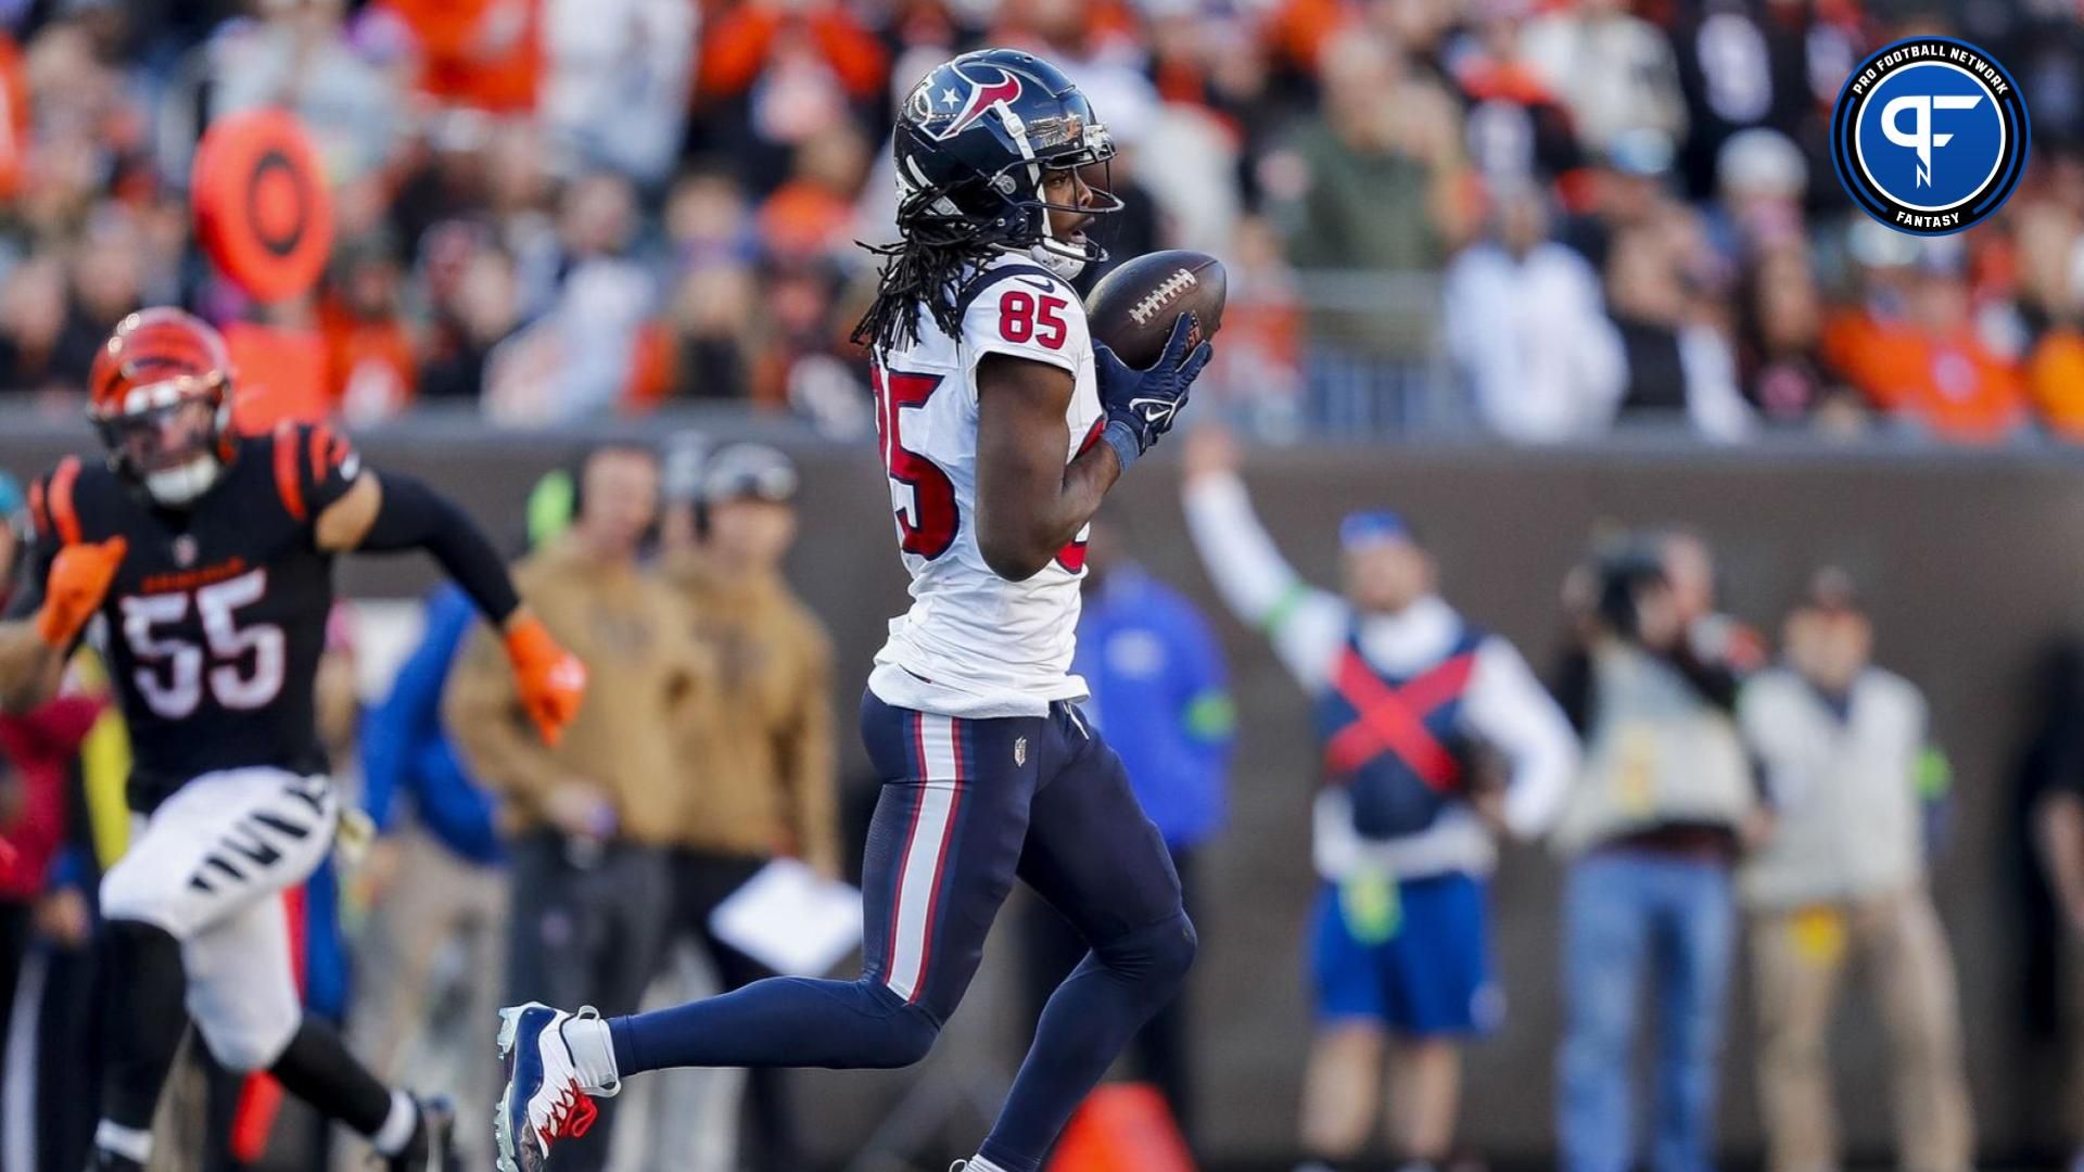
M550 1147L561 1139L579 1139L592 1130L600 1107L596 1097L613 1097L621 1084L588 1091L579 1080L571 1047L565 1045L565 1022L600 1018L592 1005L577 1014L552 1009L540 1001L500 1009L500 1061L506 1066L506 1091L500 1095L492 1134L498 1141L500 1172L538 1172L550 1162Z

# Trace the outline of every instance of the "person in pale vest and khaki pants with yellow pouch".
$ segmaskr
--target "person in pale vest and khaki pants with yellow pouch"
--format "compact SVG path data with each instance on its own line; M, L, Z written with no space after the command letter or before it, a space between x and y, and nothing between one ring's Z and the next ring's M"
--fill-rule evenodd
M1965 1170L1976 1151L1953 957L1926 888L1926 805L1946 797L1917 688L1869 661L1874 628L1842 571L1786 621L1786 663L1738 717L1773 792L1773 834L1738 886L1751 913L1767 1168L1844 1159L1826 1061L1849 953L1890 1039L1896 1166Z

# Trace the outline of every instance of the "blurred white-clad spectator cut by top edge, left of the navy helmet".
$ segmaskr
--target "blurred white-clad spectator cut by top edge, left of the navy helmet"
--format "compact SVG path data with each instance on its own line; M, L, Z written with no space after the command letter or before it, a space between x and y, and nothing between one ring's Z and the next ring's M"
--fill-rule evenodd
M694 0L540 2L540 111L559 154L663 186L688 119Z

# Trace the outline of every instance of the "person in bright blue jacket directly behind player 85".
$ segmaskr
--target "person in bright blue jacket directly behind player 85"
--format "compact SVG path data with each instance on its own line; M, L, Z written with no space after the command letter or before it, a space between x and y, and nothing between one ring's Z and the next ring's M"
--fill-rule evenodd
M1092 699L1088 722L1107 730L1144 813L1157 824L1180 872L1188 915L1196 913L1200 849L1223 828L1234 713L1223 651L1184 594L1123 555L1123 534L1094 519L1086 546L1084 611L1071 672ZM1027 997L1042 1003L1086 955L1071 924L1040 899L1021 918ZM1192 1053L1182 993L1136 1036L1142 1078L1163 1095L1192 1145Z

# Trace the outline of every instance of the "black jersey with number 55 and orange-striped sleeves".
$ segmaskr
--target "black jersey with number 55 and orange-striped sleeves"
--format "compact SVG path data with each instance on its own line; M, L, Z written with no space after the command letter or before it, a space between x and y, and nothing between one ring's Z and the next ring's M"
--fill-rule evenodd
M194 505L167 509L100 463L31 486L35 584L63 544L123 536L102 603L108 674L131 738L131 805L190 778L277 765L325 772L313 690L333 609L315 521L361 475L329 428L283 423L238 442Z

